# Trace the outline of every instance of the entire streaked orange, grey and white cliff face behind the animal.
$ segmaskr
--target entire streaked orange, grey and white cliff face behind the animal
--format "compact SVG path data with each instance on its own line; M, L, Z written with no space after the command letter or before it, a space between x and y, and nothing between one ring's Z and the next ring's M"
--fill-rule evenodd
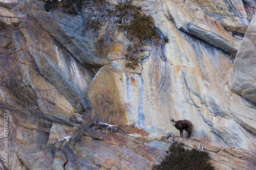
M35 0L0 1L1 28L3 22L16 29L10 39L1 33L0 47L15 48L22 61L15 64L18 90L35 103L26 108L27 100L0 84L0 112L8 113L13 130L11 169L151 169L164 157L167 143L160 140L165 133L179 135L170 117L193 123L188 145L208 143L205 150L217 169L247 168L238 150L256 142L255 1L131 3L152 16L160 35L168 38L162 57L145 46L135 69L125 65L130 43L125 33L117 33L108 54L96 51L93 32L84 30L83 22L93 13L46 12ZM95 105L106 98L104 90L109 101ZM105 118L149 134L92 131L78 142L70 140L77 125L94 118L95 108L101 108L98 113L109 109ZM3 130L4 120L0 125Z

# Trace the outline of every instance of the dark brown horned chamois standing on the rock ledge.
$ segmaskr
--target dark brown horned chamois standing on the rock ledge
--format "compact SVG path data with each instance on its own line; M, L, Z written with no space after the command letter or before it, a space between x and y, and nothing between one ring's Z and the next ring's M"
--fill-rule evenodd
M170 118L169 118L170 119ZM190 121L188 120L178 120L175 121L173 118L170 119L170 122L172 122L172 125L180 130L180 137L183 137L183 130L187 131L187 137L189 138L191 135L191 129L193 128L193 125Z

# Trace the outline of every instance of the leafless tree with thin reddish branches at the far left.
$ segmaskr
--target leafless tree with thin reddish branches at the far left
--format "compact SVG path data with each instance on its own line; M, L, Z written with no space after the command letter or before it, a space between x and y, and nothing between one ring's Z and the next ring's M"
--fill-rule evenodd
M25 27L35 25L33 23L36 22L35 18L23 19L29 20ZM36 48L49 35L47 32L43 32L33 42L22 43L13 37L19 29L21 29L19 23L7 25L0 22L0 42L2 42L0 43L0 88L13 95L16 101L20 101L19 107L17 107L8 105L7 100L0 100L0 108L17 112L32 111L31 113L39 116L40 107L54 101L57 88L39 90L41 96L38 96L36 93L38 90L26 85L24 76L26 71L40 74L33 57L30 55L29 48ZM37 30L34 29L34 31ZM39 31L37 33L39 34ZM41 104L38 104L38 100L41 101Z

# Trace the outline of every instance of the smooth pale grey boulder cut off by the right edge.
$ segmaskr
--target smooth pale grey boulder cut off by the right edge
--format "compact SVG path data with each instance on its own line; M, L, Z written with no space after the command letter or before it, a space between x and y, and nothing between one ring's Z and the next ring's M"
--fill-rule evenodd
M234 65L229 72L232 91L256 103L256 15L252 18L239 48Z

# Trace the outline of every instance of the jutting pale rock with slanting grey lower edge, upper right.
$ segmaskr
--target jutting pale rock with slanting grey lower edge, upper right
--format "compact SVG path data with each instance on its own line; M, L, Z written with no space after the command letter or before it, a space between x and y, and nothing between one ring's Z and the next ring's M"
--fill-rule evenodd
M233 5L232 10L228 10L226 3L225 1L220 1L217 4L203 1L161 1L165 16L173 21L178 29L221 48L227 53L236 55L241 39L234 38L225 29L229 28L230 31L235 31L232 29L233 22L229 20L234 20L233 16L237 15L246 18L247 14L245 9L243 11L236 9L236 5ZM242 1L239 3L242 6ZM243 33L245 33L249 20L240 20L239 17L236 19L238 20L236 28L244 30Z

